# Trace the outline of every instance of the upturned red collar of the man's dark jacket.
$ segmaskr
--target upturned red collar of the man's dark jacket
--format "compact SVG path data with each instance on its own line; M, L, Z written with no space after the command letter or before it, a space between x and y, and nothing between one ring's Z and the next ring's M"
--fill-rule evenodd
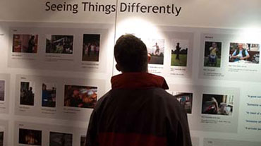
M121 73L111 77L112 89L140 89L148 87L169 89L163 77L151 73Z

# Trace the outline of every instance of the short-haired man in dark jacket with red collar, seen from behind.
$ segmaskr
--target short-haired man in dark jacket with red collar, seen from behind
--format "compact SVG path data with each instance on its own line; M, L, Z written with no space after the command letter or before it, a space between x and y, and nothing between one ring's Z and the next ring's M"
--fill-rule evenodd
M147 73L150 56L134 35L115 44L116 68L111 90L92 111L86 146L190 146L186 111L164 78Z

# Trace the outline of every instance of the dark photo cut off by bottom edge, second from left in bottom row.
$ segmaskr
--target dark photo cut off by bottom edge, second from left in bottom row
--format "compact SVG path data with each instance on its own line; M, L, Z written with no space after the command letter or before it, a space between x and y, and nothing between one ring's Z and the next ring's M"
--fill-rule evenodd
M73 146L73 134L50 132L50 146Z

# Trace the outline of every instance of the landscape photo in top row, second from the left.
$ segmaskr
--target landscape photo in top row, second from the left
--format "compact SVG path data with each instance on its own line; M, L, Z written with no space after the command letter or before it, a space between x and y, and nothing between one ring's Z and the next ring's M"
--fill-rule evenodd
M73 54L73 35L47 35L46 53Z

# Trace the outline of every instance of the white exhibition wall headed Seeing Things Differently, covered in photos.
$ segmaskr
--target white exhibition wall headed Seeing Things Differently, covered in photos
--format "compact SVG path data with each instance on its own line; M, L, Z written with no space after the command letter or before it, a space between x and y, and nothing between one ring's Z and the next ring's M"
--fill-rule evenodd
M52 145L61 135L83 145L95 101L119 73L114 42L126 33L145 42L149 72L164 76L186 109L193 145L261 145L260 7L258 0L1 0L0 146ZM249 58L238 61L241 44ZM73 104L73 92L82 102ZM37 142L25 142L28 133Z

